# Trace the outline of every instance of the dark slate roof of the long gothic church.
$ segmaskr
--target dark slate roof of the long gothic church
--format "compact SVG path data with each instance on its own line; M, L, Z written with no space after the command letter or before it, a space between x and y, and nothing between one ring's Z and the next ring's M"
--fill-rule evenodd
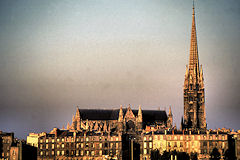
M127 109L124 108L124 115ZM132 110L133 114L137 116L138 110ZM80 109L80 117L83 120L117 120L119 109L105 110L105 109ZM144 122L166 121L167 114L160 110L142 110Z

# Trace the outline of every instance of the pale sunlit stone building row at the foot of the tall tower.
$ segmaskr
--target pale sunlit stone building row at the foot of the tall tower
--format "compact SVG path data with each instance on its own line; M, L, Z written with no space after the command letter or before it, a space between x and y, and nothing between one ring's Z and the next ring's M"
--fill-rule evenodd
M213 148L217 148L221 159L228 149L228 134L219 132L172 131L151 132L144 136L144 157L150 159L150 151L196 153L198 159L209 159Z

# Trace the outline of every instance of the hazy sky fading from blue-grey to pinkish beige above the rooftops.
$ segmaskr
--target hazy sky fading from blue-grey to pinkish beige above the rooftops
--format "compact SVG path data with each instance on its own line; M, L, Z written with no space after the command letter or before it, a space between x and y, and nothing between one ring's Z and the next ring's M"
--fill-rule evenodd
M240 1L195 2L208 129L240 129ZM183 116L191 0L1 0L0 130L66 127L80 108Z

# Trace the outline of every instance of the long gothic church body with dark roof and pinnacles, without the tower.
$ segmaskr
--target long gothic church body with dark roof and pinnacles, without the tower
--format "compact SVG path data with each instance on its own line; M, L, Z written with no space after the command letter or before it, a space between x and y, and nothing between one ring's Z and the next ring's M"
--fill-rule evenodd
M172 116L172 114L171 114ZM171 117L172 118L172 117ZM121 131L138 132L147 126L154 126L164 129L167 126L168 116L165 111L160 110L132 110L127 108L100 110L100 109L79 109L72 118L71 130L96 130L96 131ZM169 126L171 126L169 121Z

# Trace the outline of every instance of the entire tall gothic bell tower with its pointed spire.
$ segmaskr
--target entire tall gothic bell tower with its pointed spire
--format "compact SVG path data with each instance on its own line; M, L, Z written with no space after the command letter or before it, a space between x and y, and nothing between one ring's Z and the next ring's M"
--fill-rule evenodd
M192 33L189 55L189 66L186 66L183 96L183 127L191 130L206 130L205 92L202 66L199 69L195 9L193 3Z

